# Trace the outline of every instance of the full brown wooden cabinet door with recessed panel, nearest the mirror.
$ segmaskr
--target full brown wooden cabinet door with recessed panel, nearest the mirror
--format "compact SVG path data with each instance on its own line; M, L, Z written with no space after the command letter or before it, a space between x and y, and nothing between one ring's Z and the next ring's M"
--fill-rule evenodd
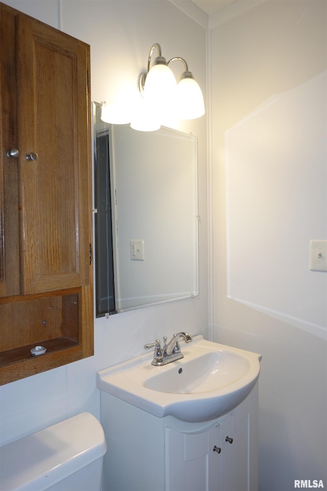
M89 283L89 49L16 15L16 50L20 288L26 295Z

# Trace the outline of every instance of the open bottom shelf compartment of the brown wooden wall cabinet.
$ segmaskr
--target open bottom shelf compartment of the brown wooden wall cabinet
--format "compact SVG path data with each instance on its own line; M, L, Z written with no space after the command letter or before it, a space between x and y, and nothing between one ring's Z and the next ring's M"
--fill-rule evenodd
M0 302L0 385L85 357L83 325L88 319L83 319L82 289ZM32 356L35 346L45 346L46 352Z

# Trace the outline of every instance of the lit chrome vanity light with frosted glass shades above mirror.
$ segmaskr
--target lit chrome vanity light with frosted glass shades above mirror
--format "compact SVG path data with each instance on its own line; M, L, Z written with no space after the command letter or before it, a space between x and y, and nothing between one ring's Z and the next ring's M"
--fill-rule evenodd
M155 49L158 56L150 69ZM185 68L178 84L169 68L169 64L175 60L182 61ZM188 64L179 56L167 62L161 55L161 47L157 42L150 49L147 71L139 74L137 86L142 98L132 117L131 127L134 129L158 129L160 124L172 115L179 119L196 119L204 115L202 92L189 71Z

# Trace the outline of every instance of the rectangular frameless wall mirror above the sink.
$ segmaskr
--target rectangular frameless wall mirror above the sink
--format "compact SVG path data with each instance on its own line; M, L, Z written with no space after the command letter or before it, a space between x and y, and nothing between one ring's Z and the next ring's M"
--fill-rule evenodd
M93 112L97 317L198 295L196 137Z

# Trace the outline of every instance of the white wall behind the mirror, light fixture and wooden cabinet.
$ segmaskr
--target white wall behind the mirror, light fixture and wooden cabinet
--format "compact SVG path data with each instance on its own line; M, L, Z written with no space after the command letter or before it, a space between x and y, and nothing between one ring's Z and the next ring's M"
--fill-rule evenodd
M206 30L169 1L5 0L8 5L61 28L91 47L92 100L115 99L135 90L148 53L181 56L206 91ZM176 67L176 70L181 67ZM100 418L99 369L143 353L143 345L179 330L207 335L206 117L181 131L198 138L200 295L95 320L95 356L0 388L0 445L81 411Z

